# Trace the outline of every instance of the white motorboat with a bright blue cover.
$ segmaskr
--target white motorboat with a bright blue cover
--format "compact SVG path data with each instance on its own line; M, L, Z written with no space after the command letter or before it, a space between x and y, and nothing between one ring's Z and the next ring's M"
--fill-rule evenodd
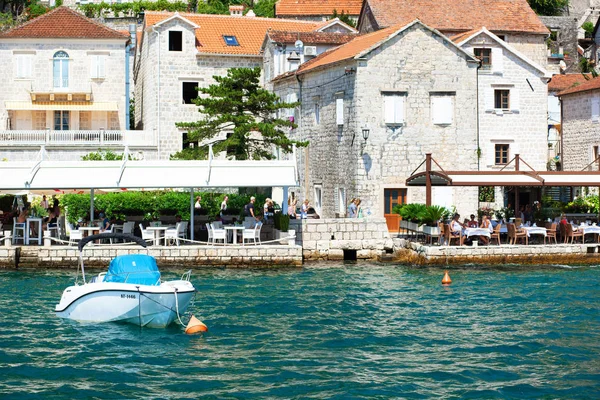
M135 325L164 328L176 319L181 322L196 289L190 282L191 270L181 279L163 282L154 257L126 254L115 257L107 272L86 282L83 265L84 246L98 239L116 238L146 247L142 239L123 234L100 234L79 242L83 284L65 289L56 305L56 315L82 322L121 321Z

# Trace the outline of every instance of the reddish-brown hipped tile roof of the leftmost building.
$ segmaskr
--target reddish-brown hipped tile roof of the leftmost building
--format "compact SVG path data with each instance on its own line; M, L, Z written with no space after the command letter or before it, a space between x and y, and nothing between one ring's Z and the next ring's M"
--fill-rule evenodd
M123 39L129 34L123 34L100 23L84 17L68 7L57 7L10 29L0 38L70 38L70 39Z

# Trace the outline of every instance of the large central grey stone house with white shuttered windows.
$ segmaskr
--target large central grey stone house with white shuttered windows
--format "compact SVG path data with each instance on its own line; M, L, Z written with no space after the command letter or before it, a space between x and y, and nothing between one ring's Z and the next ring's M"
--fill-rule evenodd
M322 217L344 215L353 197L364 215L388 216L424 202L406 178L433 153L441 165L477 169L478 60L420 21L359 36L273 80L293 94L303 196ZM474 188L434 188L434 203L477 208ZM388 221L389 222L389 221ZM397 229L397 227L396 227Z

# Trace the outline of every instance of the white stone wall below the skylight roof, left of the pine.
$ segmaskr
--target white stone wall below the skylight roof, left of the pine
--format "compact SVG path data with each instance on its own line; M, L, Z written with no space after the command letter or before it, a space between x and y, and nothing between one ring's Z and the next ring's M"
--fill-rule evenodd
M168 32L181 31L183 50L169 51ZM156 129L159 158L168 159L183 148L183 130L176 122L194 122L201 118L195 104L183 104L183 82L208 87L213 76L226 75L229 68L262 66L262 57L198 55L195 28L174 18L144 33L136 55L135 124L136 129Z

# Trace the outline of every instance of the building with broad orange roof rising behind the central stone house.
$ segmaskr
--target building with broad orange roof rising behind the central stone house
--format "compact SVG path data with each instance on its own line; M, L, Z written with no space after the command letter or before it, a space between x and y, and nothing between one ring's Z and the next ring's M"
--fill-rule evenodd
M358 30L372 32L418 18L447 36L485 26L545 68L548 29L527 0L365 0Z

